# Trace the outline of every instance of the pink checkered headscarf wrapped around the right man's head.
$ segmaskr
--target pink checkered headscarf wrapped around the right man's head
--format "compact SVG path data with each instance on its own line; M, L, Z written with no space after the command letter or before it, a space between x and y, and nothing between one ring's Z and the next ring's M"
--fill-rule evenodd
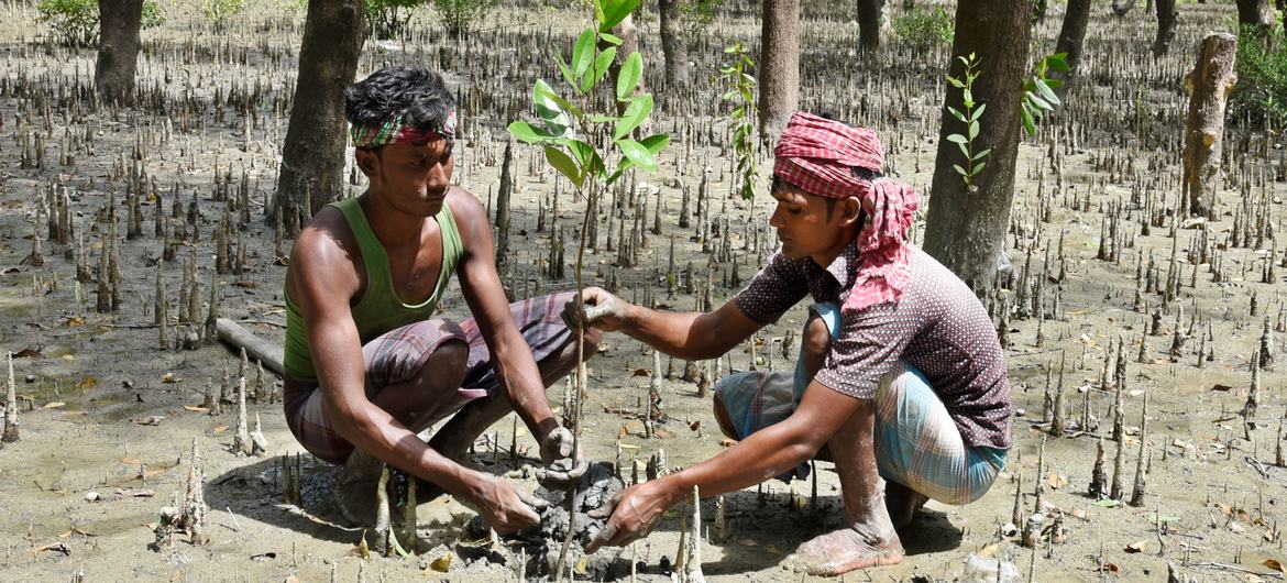
M782 180L826 198L856 197L866 220L858 232L858 265L843 311L897 301L911 279L907 273L911 227L920 198L911 187L853 174L864 167L879 174L884 151L875 131L849 127L808 112L795 112L777 147L773 174Z

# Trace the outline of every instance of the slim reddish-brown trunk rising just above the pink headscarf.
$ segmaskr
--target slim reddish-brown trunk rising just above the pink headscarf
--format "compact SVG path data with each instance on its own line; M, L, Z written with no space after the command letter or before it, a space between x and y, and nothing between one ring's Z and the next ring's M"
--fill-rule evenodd
M759 48L759 136L777 142L799 108L801 3L764 0Z

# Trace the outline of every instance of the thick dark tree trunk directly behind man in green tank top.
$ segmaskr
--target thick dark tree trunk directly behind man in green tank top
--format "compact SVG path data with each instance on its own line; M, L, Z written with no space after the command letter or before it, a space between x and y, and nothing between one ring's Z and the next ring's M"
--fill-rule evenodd
M358 72L364 31L362 0L309 0L270 220L286 211L291 224L293 211L302 224L344 192L344 90Z

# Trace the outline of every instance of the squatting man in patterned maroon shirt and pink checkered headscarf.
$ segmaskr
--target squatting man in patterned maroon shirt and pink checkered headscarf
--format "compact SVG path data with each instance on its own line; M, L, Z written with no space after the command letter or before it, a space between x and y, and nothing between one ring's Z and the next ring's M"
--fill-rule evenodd
M927 498L973 502L1005 465L1010 386L996 332L970 290L906 242L916 194L880 176L875 134L797 112L773 157L770 225L782 246L731 301L660 313L588 288L564 311L695 360L736 347L806 295L816 302L794 380L749 372L717 386L716 418L741 441L614 498L589 551L647 534L694 486L737 490L819 454L835 462L846 520L801 544L797 565L816 575L891 565L903 557L897 529Z

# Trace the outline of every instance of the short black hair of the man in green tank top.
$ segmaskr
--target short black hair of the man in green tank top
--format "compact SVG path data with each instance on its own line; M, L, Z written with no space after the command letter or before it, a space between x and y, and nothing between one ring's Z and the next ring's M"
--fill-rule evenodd
M443 77L425 68L380 69L344 90L344 117L355 126L405 115L404 124L425 131L441 127L454 108L456 98Z

